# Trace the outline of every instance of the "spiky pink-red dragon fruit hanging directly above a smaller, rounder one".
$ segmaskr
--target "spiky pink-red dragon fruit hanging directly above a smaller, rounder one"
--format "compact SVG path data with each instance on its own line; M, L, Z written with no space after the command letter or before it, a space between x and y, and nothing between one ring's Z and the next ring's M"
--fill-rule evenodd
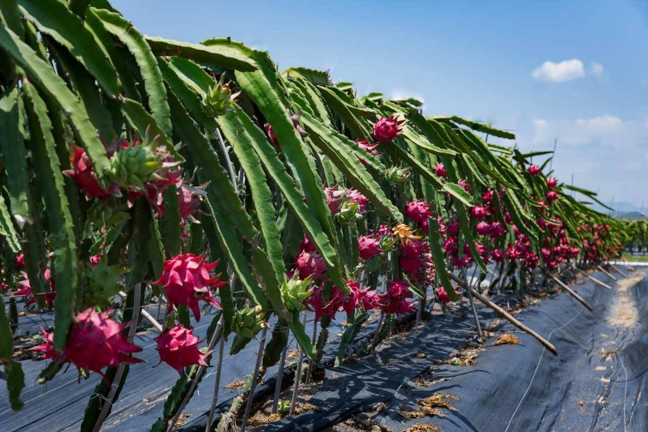
M164 263L160 279L153 282L161 285L168 299L168 310L176 304L185 304L194 313L196 321L200 321L200 307L198 301L202 300L220 308L220 303L214 299L209 288L224 286L227 282L218 280L218 275L210 276L209 272L218 266L216 262L205 262L205 258L194 256L192 253L176 255Z

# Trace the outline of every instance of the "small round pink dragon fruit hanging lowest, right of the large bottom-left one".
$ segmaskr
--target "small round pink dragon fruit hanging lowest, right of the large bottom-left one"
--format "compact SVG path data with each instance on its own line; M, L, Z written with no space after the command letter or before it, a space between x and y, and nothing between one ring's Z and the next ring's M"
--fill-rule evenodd
M161 333L156 337L157 353L160 361L164 361L179 374L184 374L184 369L191 365L207 367L205 361L213 351L202 354L198 350L198 337L193 334L192 327L186 328L178 324L174 328Z

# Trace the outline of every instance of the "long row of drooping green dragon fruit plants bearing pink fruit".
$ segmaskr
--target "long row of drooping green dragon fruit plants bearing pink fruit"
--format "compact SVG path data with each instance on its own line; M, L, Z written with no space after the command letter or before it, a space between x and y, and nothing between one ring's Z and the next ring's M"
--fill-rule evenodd
M148 315L161 361L179 372L154 425L164 430L214 367L218 340L232 337L233 352L264 340L271 315L318 361L336 312L353 324L412 312L422 296L457 301L448 270L485 275L494 263L524 288L533 269L618 255L621 225L564 191L596 194L559 183L550 157L530 163L551 152L487 142L513 140L507 131L424 117L414 99L358 97L321 71L279 73L229 38L145 36L106 0L8 0L0 18L0 260L14 304L0 308L0 358L16 410L20 297L27 312L54 310L34 348L38 382L66 365L97 380L87 431L140 361L143 304L165 299L163 323ZM206 306L219 312L199 341L190 318ZM272 338L262 367L288 341Z

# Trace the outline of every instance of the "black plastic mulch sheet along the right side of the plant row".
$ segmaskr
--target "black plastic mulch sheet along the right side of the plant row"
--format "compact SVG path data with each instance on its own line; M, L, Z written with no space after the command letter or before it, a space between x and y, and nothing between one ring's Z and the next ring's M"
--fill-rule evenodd
M592 275L613 284L603 273ZM474 321L462 315L464 310L449 313L359 363L327 369L323 386L308 401L321 411L286 418L264 431L316 431L370 410L376 402L388 408L373 420L393 431L415 423L435 424L446 432L648 430L648 300L643 295L648 280L627 290L630 303L619 310L616 286L606 290L587 281L574 288L594 306L594 313L562 293L516 315L550 339L558 357L504 321L496 330L515 334L520 345L493 346L493 337L485 342L476 365L435 365L474 334ZM636 308L630 326L607 321L615 313L632 312L629 304ZM483 306L478 311L482 322L494 317ZM417 358L417 353L426 358ZM430 366L434 374L428 378L450 380L418 387L413 381ZM443 418L406 420L399 415L435 393L459 398L448 400L456 409L442 410Z

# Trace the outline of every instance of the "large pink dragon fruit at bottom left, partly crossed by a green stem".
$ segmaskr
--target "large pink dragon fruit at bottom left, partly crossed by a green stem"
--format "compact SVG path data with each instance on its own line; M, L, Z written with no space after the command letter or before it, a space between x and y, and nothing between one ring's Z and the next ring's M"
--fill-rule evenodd
M110 319L110 311L95 312L92 308L86 309L76 315L67 345L60 354L61 358L67 363L73 363L79 370L92 370L102 376L101 370L106 366L117 367L122 361L139 363L143 360L128 355L142 350L128 342L122 334L122 330L128 325ZM43 359L56 358L52 344L54 334L48 334L42 329L41 332L45 337L44 343L32 350L44 352Z

